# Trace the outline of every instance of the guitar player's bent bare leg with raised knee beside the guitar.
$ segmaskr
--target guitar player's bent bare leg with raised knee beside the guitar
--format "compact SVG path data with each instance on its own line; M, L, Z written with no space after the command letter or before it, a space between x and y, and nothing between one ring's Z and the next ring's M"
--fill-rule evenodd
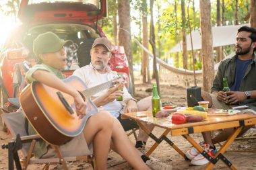
M108 112L99 112L86 122L84 137L88 144L93 142L96 169L106 169L112 131L113 118Z

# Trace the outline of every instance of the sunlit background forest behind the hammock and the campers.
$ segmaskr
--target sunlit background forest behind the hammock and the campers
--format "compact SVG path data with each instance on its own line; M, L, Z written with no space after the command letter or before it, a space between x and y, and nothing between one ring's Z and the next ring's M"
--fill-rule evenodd
M0 19L8 17L16 21L19 4L19 0L2 0ZM203 20L210 21L206 24L208 28L238 24L253 26L253 23L255 26L255 5L255 0L108 0L108 17L98 24L113 44L125 47L131 78L133 79L134 74L141 74L143 83L150 83L152 78L156 78L158 82L158 65L154 57L145 52L138 42L155 57L173 67L193 70L194 61L195 70L203 69L203 65L209 68L209 65L214 65L233 52L234 46L210 46L210 50L205 50L206 57L210 60L203 63L203 46L200 50L188 51L186 35L201 30ZM203 12L209 15L200 15ZM210 41L212 40L209 39ZM170 52L179 42L182 42L183 50ZM207 81L203 79L206 90L210 88L210 83L207 82L214 75L213 69L210 72L212 73L205 74L210 74L212 78Z

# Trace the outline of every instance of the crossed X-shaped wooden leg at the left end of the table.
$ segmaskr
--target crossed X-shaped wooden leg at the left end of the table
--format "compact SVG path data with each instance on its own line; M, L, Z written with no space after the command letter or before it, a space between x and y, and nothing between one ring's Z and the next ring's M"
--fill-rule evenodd
M141 122L137 121L137 124L139 125L139 127L144 130L144 132L146 132L146 134L148 134L148 136L150 136L150 138L152 138L153 140L155 140L156 142L153 144L153 146L150 148L150 150L146 153L146 157L149 157L156 149L156 147L160 144L160 142L162 142L162 140L165 140L168 144L170 144L170 146L172 146L172 148L174 148L175 151L177 151L184 159L187 159L185 153L183 153L183 151L181 151L181 149L176 146L170 139L168 139L166 136L167 134L170 132L170 129L166 129L164 130L164 132L162 133L162 135L160 136L160 138L157 138L156 136L154 136L154 134L152 134L152 132L150 132L150 130L148 130L148 128L146 128L146 126L144 124L142 124Z

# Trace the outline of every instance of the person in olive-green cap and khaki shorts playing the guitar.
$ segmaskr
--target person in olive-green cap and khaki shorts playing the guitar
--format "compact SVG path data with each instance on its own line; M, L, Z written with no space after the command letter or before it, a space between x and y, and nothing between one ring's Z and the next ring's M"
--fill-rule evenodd
M26 81L28 83L38 81L71 95L74 100L76 114L85 118L86 102L82 95L75 88L61 81L65 78L61 69L65 69L67 65L67 56L63 46L68 44L71 44L71 41L61 40L53 32L40 34L33 44L34 54L40 60L40 64L35 65L28 71ZM122 86L123 84L119 83L116 87L110 88L106 95L114 93ZM104 99L104 96L102 96L102 99ZM30 124L29 134L35 133L36 131ZM96 169L101 170L106 169L109 148L119 153L134 169L150 169L137 154L119 121L105 111L90 116L82 133L60 146L63 157L88 155L90 149L93 149ZM56 157L54 148L44 140L36 142L34 155L41 158Z

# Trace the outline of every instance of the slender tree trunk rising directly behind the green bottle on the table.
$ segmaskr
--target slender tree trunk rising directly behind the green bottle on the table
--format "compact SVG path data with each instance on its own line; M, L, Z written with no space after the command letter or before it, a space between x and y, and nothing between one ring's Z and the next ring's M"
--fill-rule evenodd
M158 77L158 69L156 67L156 43L155 43L155 30L154 30L154 19L153 19L153 5L154 0L150 0L150 44L153 49L153 69L155 70L156 84L158 86L158 94L160 95L160 85Z

